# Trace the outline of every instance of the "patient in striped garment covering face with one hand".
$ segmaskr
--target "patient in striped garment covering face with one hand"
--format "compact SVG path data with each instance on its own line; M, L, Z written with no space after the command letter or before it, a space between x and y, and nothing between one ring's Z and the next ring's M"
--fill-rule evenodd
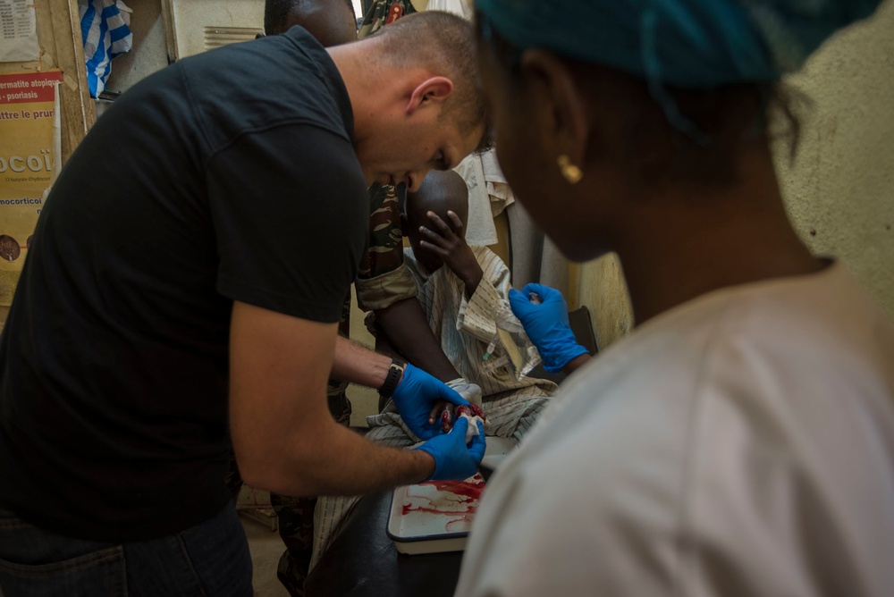
M401 222L409 248L404 259L416 278L417 298L426 312L434 336L457 372L481 387L485 435L516 443L534 425L558 386L544 379L523 377L509 366L486 366L499 360L501 349L484 359L496 334L494 313L509 309L510 271L499 256L485 247L469 247L463 234L468 216L468 187L452 171L429 172L416 193L410 193ZM420 231L425 227L425 231ZM375 326L375 349L390 345ZM413 362L412 354L402 357ZM419 438L404 425L392 400L378 415L367 416L367 439L394 447L412 446ZM325 497L316 506L314 556L311 568L337 534L356 497Z

